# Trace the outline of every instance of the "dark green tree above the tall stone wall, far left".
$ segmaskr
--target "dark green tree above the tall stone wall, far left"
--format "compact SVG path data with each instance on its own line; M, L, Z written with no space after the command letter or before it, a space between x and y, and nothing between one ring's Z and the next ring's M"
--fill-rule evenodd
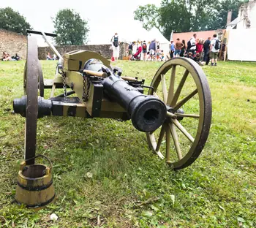
M26 22L26 18L10 7L0 9L0 28L24 35L26 34L26 29L32 29L30 24Z

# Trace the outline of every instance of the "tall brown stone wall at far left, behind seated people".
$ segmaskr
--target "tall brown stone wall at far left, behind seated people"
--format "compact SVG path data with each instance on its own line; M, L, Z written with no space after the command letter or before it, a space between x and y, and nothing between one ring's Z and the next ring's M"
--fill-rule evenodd
M22 59L26 59L26 36L0 29L0 56L3 51L10 53L10 56L17 53Z

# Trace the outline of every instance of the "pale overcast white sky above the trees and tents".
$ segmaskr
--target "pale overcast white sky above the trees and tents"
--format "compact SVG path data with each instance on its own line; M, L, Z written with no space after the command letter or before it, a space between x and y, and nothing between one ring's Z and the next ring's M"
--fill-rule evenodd
M161 0L1 0L0 8L12 7L26 18L34 30L45 32L53 32L51 18L59 9L75 9L89 23L88 43L108 44L115 32L122 37L127 32L136 33L142 28L142 24L133 19L133 12L145 4L159 6ZM45 45L43 39L38 39L38 45Z

